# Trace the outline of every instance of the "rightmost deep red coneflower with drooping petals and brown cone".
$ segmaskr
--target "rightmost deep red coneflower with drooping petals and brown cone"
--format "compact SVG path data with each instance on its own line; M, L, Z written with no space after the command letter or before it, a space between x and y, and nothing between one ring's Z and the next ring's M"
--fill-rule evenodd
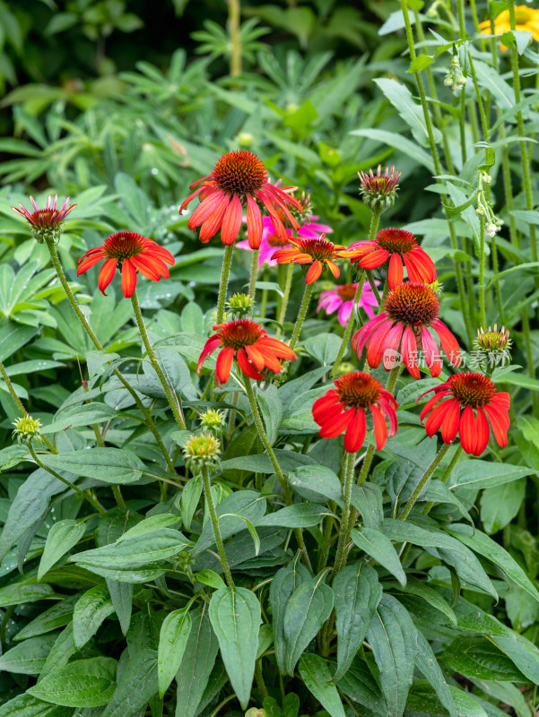
M488 376L474 371L454 374L430 391L435 393L421 413L422 420L430 413L425 423L427 436L434 436L441 427L444 443L453 443L458 433L465 453L481 455L489 442L488 416L498 445L501 448L507 445L511 399L509 393L496 391Z

